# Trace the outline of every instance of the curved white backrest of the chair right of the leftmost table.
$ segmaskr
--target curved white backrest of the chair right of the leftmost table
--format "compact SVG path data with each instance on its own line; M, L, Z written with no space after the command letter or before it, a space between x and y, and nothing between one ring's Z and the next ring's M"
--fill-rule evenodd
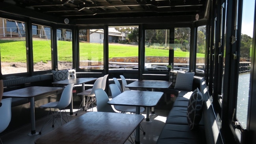
M72 98L73 87L74 87L74 83L71 83L64 88L64 90L62 91L59 103L58 105L56 105L56 108L63 109L69 106Z

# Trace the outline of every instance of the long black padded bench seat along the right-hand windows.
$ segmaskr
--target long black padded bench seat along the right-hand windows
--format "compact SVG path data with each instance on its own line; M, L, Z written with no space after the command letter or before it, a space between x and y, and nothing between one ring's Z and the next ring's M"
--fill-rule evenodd
M194 76L192 90L170 88L166 92L176 99L157 144L223 143L204 78Z

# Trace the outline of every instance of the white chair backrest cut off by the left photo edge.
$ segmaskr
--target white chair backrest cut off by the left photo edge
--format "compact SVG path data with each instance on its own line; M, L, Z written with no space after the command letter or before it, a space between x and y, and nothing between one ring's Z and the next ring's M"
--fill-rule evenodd
M0 133L4 131L11 122L11 98L2 99L0 107Z

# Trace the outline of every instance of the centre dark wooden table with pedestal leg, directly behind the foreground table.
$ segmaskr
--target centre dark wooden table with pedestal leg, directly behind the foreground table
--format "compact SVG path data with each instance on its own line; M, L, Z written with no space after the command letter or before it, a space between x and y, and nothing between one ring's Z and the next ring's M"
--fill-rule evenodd
M110 100L110 105L136 106L136 115L140 114L140 107L154 107L163 96L163 92L126 90ZM135 143L140 143L139 126L136 128Z

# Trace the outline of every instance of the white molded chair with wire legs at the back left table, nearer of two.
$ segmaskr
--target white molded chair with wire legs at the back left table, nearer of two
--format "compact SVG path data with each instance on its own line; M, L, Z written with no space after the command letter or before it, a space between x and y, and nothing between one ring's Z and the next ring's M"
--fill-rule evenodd
M82 106L82 104L84 105L83 110L87 111L87 109L89 109L90 105L91 105L91 108L93 109L93 105L96 102L94 91L96 89L101 89L102 88L103 78L104 77L100 77L100 78L96 79L96 81L93 84L93 88L91 90L85 90L83 92L80 92L80 93L76 94L76 95L82 95L83 96L82 103L80 104L80 107ZM85 100L85 98L86 98L86 100ZM79 107L79 109L80 109L80 107ZM76 112L76 115L77 115L77 113L78 113L78 111Z

